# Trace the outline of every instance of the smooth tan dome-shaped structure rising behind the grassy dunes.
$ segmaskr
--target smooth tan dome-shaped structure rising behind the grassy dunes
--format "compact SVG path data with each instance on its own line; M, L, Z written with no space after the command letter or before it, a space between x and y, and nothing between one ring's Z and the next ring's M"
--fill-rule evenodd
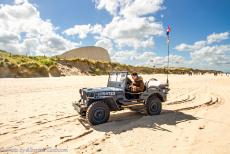
M86 46L72 49L58 56L63 59L84 58L95 61L110 62L110 56L106 49L96 46Z

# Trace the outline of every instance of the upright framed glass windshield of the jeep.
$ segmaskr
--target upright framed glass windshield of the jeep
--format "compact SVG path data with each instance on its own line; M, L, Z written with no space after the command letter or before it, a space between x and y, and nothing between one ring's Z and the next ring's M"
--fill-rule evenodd
M125 88L128 72L112 72L109 75L107 87Z

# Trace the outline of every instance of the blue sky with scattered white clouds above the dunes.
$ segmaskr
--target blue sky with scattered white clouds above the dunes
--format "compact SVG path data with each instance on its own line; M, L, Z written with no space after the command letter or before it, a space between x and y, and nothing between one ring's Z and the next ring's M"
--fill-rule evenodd
M0 49L108 50L113 62L230 72L229 0L0 0Z

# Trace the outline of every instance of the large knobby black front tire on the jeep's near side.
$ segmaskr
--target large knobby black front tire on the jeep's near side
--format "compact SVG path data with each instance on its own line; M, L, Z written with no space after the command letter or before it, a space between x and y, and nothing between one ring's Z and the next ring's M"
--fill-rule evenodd
M92 125L98 125L107 122L109 116L109 107L102 101L92 103L86 112L86 119Z

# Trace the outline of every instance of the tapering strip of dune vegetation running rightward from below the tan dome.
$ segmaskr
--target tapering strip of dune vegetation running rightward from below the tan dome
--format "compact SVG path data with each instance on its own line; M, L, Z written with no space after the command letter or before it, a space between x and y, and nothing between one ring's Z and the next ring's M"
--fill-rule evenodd
M57 63L66 66L75 66L81 72L90 75L106 75L112 71L139 72L141 74L166 74L167 68L151 68L144 66L132 66L111 62L99 62L88 59L58 59ZM82 68L84 66L84 68ZM170 74L204 74L204 73L222 73L215 70L199 70L192 68L169 68Z

